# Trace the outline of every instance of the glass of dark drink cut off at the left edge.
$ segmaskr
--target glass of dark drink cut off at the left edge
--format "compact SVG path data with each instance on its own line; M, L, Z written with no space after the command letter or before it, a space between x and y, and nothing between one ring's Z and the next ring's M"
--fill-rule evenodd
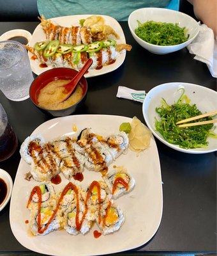
M0 104L0 162L12 156L17 145L17 136L8 122L8 116L3 106Z

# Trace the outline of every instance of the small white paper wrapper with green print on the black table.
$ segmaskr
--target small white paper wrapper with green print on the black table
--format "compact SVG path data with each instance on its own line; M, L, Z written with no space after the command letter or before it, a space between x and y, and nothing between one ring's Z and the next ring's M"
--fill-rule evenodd
M118 86L117 95L118 98L135 100L138 102L143 102L146 96L145 91L137 91L130 89L125 86Z

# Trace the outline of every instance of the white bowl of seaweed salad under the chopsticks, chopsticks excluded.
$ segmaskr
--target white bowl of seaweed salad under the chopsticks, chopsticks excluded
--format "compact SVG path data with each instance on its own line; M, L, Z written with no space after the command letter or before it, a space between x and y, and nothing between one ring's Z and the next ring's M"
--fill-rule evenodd
M178 127L180 120L217 109L217 92L189 83L166 83L151 89L143 102L147 126L158 140L175 150L204 154L217 150L217 123ZM192 122L216 119L200 118Z

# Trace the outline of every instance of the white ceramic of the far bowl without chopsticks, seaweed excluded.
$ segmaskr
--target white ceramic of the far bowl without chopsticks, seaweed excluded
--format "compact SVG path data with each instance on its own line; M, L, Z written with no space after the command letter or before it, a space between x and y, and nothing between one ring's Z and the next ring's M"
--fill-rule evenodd
M148 20L171 22L174 24L178 23L181 28L186 27L190 36L188 40L183 44L169 46L149 44L135 34L135 29L138 27L137 20L142 23ZM137 41L137 43L148 51L156 54L167 54L169 52L176 52L180 49L183 49L191 43L191 41L197 36L199 32L199 25L197 24L197 21L195 19L191 18L185 13L163 8L142 8L135 10L130 14L128 18L128 26L130 28L132 36Z

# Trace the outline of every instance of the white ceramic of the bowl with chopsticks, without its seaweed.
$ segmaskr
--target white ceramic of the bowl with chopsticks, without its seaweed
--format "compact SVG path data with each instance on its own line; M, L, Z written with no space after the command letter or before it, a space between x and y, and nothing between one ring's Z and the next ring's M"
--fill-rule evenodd
M189 84L189 83L166 83L166 84L160 84L153 89L151 89L143 102L142 105L142 112L144 115L144 118L146 120L146 124L151 130L151 132L154 134L158 140L163 142L165 145L167 145L170 148L174 148L178 151L185 152L185 153L191 153L191 154L204 154L209 153L217 150L217 139L208 138L209 145L205 148L193 148L193 149L184 149L180 148L178 145L174 145L171 143L168 143L166 140L163 139L163 136L161 136L160 132L155 130L154 126L154 118L157 118L160 120L160 117L156 113L155 109L156 107L161 106L161 99L165 99L168 104L173 104L176 102L181 92L177 92L179 88L184 88L185 94L190 98L191 104L196 104L197 108L202 112L210 112L215 109L217 109L217 92L214 92L214 90L208 89L204 86L200 86L197 84ZM215 130L214 132L217 132L217 124L214 124Z

